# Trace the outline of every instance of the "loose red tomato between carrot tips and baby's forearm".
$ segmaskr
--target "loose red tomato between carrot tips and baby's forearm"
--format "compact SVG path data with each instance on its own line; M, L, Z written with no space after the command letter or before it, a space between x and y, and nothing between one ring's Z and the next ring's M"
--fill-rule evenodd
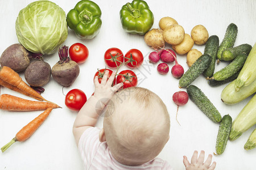
M65 97L65 105L74 111L79 111L86 101L85 93L77 88L69 91Z

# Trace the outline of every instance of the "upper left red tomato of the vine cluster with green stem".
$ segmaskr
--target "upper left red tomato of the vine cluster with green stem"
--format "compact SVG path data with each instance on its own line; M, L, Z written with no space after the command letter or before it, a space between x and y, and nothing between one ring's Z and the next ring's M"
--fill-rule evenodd
M123 53L118 48L110 48L106 50L104 60L107 66L117 68L123 63Z

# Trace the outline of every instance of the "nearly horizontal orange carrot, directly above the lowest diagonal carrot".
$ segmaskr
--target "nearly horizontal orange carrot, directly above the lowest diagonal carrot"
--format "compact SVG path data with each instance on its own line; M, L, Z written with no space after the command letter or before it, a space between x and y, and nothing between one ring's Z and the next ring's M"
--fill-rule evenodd
M54 103L44 101L32 101L13 95L0 95L0 109L7 111L39 111L47 108L60 108Z

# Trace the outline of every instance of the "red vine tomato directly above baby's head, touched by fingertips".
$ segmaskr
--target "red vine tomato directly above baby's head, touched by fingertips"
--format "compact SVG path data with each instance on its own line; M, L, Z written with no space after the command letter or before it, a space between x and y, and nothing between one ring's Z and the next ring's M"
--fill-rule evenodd
M123 70L117 75L117 84L123 83L123 88L134 87L138 84L136 74L131 70Z

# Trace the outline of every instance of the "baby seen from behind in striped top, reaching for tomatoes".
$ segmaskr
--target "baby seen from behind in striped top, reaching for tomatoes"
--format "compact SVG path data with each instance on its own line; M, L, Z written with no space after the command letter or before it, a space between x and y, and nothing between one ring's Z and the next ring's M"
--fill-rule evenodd
M101 83L94 79L95 91L77 114L73 134L85 169L172 169L168 162L156 158L168 142L170 117L163 101L153 92L130 87L116 92L106 70ZM115 93L116 92L116 93ZM94 127L104 117L102 129ZM214 169L212 155L204 163L204 151L191 163L184 156L187 170ZM210 165L212 163L212 165Z

